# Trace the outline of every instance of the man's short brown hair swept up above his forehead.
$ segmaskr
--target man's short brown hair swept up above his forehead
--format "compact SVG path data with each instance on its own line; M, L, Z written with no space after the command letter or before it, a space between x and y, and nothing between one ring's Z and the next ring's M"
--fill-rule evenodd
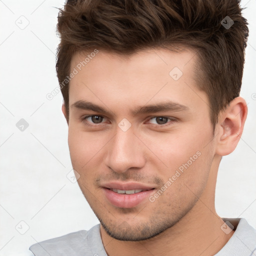
M242 9L239 0L67 0L58 13L56 56L67 113L66 77L75 52L97 48L132 54L180 45L197 52L195 79L208 96L214 130L219 112L241 88L248 37Z

